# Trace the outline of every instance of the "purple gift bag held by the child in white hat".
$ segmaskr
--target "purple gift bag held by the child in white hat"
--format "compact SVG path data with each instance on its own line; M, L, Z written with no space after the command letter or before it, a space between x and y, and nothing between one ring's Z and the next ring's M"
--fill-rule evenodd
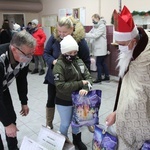
M78 91L73 92L72 101L74 111L71 124L73 126L91 126L99 123L101 90L89 91L85 96L80 96Z

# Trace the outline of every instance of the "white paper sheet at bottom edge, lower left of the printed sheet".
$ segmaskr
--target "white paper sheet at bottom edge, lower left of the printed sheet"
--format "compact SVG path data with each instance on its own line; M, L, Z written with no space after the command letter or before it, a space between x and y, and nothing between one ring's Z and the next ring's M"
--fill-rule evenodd
M38 144L37 142L31 140L28 137L24 137L20 150L48 150L46 148L44 148L43 146L41 146L40 144Z

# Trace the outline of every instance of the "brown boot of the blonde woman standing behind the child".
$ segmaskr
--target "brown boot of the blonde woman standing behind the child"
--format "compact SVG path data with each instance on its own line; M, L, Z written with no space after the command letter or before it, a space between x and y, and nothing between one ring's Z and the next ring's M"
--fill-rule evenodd
M54 119L55 107L46 107L46 126L53 129L53 119Z

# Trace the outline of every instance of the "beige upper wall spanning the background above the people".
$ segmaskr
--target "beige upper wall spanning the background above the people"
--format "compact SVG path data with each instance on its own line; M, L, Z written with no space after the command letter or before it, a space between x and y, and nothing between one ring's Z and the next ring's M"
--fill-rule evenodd
M119 0L41 0L43 11L40 13L24 13L26 23L34 18L38 18L41 23L41 17L44 15L58 14L62 8L86 8L86 25L92 25L91 16L98 13L106 19L107 25L111 24L111 16L114 9L119 10ZM149 0L122 0L122 6L126 5L130 11L150 10ZM3 22L3 13L0 11L0 27ZM15 13L15 12L13 12ZM19 13L19 12L16 12ZM23 13L23 12L21 12Z

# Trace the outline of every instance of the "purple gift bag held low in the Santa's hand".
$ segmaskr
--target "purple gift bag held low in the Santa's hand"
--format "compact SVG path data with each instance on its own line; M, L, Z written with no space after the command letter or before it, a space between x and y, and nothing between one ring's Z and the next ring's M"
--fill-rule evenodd
M112 126L95 126L92 150L117 150L118 139Z

